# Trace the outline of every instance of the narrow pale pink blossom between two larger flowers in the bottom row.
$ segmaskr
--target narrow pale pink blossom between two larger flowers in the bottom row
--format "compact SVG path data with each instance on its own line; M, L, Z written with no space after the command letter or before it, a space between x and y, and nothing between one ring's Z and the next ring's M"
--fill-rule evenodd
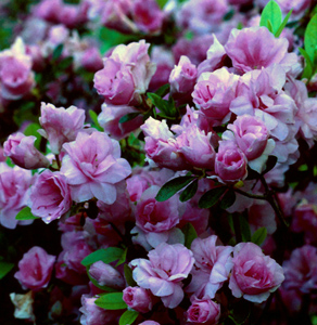
M205 239L195 238L191 250L195 259L192 270L192 281L187 290L198 297L214 298L216 291L228 280L232 268L231 246L216 246L217 236Z

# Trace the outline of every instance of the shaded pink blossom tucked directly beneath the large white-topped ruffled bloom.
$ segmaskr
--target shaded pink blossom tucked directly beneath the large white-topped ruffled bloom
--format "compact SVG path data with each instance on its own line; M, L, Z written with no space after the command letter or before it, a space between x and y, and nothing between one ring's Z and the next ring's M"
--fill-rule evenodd
M104 131L116 140L126 138L130 132L138 129L143 122L141 114L129 121L124 123L119 122L119 119L123 116L139 112L131 106L103 104L101 109L102 110L98 116L98 121Z

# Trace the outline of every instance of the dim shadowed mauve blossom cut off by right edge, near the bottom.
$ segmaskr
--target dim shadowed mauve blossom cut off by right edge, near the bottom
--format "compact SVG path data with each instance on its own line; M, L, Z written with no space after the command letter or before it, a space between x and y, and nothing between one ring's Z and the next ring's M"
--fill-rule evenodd
M292 251L283 262L286 281L282 287L287 290L313 294L317 289L317 249L305 245Z

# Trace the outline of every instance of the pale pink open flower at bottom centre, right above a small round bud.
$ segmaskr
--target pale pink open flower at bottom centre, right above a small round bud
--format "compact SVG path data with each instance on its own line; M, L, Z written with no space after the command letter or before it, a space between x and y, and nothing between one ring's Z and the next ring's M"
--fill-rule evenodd
M192 252L181 244L162 243L149 253L149 260L130 262L137 284L161 297L167 308L176 308L183 298L181 281L187 278L194 263Z

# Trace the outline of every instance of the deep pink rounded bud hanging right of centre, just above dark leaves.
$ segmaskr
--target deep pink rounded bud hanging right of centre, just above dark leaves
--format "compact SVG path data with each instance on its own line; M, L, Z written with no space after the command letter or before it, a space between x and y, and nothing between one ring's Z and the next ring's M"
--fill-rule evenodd
M246 157L233 141L220 141L215 160L215 172L225 182L243 180L246 174Z

